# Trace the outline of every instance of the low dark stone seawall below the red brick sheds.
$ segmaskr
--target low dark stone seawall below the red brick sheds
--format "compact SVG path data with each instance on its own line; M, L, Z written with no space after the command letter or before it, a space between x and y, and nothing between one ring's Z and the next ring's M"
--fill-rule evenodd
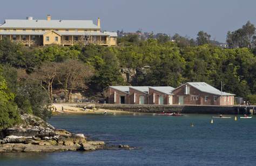
M90 107L90 105L79 104L78 107ZM140 113L160 113L160 112L181 112L181 113L198 113L198 114L255 114L256 106L201 106L201 105L119 105L119 104L93 104L95 108L123 110Z

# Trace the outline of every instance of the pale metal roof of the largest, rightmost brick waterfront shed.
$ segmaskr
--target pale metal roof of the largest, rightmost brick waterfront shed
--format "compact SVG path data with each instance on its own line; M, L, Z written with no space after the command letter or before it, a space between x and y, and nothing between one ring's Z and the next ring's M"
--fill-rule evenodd
M187 84L197 88L201 92L221 95L221 91L219 89L214 88L213 86L207 84L206 82L187 82ZM235 95L231 93L222 92L222 95Z

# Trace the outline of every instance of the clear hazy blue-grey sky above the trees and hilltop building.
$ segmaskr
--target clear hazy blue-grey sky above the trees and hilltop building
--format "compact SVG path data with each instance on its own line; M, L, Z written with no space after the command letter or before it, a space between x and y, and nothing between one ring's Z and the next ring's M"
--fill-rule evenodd
M227 31L256 25L255 0L0 0L5 19L101 20L102 30L166 33L196 38L198 31L225 42Z

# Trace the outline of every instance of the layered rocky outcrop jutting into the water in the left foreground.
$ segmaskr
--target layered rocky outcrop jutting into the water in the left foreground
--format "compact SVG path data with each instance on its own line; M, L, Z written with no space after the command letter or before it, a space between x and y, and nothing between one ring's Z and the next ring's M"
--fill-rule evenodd
M39 117L29 114L21 116L21 125L0 131L0 153L134 149L123 145L106 146L103 141L87 140L84 134L55 129Z

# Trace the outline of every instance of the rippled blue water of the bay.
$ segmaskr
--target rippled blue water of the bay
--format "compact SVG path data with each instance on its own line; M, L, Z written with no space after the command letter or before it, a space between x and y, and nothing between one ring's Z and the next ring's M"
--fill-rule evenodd
M51 123L73 133L138 150L0 155L0 165L256 165L256 118L142 115L58 115ZM190 127L190 123L194 127Z

